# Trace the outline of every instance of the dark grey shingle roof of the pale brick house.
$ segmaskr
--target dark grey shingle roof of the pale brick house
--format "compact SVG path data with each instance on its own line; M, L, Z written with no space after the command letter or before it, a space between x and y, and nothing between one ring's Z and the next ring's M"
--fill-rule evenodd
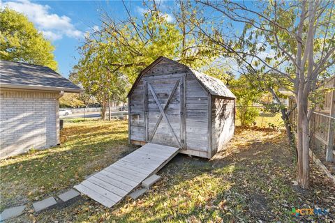
M0 61L0 85L15 89L82 91L79 86L51 68L12 61Z

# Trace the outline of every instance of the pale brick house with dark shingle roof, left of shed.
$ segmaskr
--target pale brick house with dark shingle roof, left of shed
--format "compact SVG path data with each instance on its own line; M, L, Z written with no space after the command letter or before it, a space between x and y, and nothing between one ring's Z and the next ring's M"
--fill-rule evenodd
M59 98L81 91L45 66L0 61L0 158L59 144Z

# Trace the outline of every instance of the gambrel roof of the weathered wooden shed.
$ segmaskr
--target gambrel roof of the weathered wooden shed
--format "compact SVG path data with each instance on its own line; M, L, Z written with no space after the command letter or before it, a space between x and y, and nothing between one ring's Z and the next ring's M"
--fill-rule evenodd
M177 61L168 59L165 56L158 57L156 61L151 63L149 66L147 66L147 68L145 68L144 70L142 70L142 72L140 72L140 75L138 75L135 83L133 84L131 88L131 91L129 91L128 93L128 96L131 95L137 83L140 82L140 79L144 75L144 73L147 72L147 70L149 70L150 68L154 67L157 63L161 62L162 60L168 61L170 63L174 63L177 66L186 68L186 70L188 70L192 75L194 75L195 79L197 79L198 82L201 84L201 86L206 91L208 91L211 95L216 95L216 96L225 97L225 98L236 98L235 95L227 88L227 86L225 86L225 84L223 84L223 82L220 79L206 75L203 72L190 68L182 63L178 63Z

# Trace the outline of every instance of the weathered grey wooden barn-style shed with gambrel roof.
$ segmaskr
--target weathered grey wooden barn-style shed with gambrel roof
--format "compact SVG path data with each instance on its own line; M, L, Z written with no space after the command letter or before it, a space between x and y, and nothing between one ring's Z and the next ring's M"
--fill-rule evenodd
M129 143L211 158L234 134L234 105L221 80L161 56L128 93Z

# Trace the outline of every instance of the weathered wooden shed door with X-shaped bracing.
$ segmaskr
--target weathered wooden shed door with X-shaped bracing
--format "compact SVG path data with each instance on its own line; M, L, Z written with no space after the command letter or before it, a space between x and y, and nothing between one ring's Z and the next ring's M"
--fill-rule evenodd
M186 148L185 77L144 77L147 142Z

